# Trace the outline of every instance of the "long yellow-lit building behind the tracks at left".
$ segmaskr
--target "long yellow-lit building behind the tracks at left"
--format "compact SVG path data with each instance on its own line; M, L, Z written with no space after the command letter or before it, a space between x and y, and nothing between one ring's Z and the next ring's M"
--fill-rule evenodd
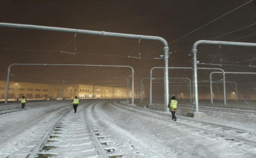
M10 82L8 90L8 100L14 100L25 96L27 99L61 99L63 85L48 85L40 83L26 82ZM0 81L0 100L5 99L6 81ZM67 84L64 87L63 97L65 99L73 99L79 97L81 99L111 99L127 98L127 89L115 87L95 86L93 93L93 85ZM129 97L131 91L129 90Z

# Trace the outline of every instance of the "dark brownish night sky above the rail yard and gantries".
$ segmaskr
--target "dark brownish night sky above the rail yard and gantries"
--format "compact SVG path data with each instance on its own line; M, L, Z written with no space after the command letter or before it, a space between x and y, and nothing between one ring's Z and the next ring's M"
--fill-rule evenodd
M140 0L140 1L0 1L0 22L45 25L93 31L120 32L160 36L168 43L169 66L192 67L191 45L200 39L241 41L255 43L255 1L249 0ZM232 11L228 13L228 11ZM228 13L225 15L225 13ZM221 15L225 15L221 17ZM201 29L212 20L221 17ZM252 25L247 27L248 25ZM198 29L195 31L195 29ZM195 31L184 38L182 36ZM248 37L245 37L248 36ZM181 38L181 39L179 39ZM179 40L177 40L179 39ZM236 40L237 39L237 40ZM76 41L76 47L75 47ZM175 42L173 42L175 41ZM105 64L132 66L135 82L140 86L143 77L156 66L164 66L163 60L154 59L163 54L159 41L93 36L66 32L36 31L29 29L0 28L0 80L6 80L7 68L15 63L38 64ZM136 47L137 45L137 47ZM187 48L188 47L188 48ZM64 52L75 52L66 54ZM132 50L134 50L132 52ZM178 50L178 51L177 51ZM175 52L177 51L177 52ZM219 52L218 52L219 51ZM132 54L131 54L132 52ZM216 53L218 52L218 55ZM225 71L255 72L249 67L255 48L200 45L198 61L223 66L198 65L198 67L222 68ZM139 57L142 59L129 58ZM103 55L99 55L103 54ZM150 54L150 55L148 55ZM112 56L109 56L112 55ZM122 56L122 57L121 57ZM220 59L222 60L220 62ZM246 62L240 62L246 61ZM237 63L234 63L237 62ZM233 65L227 65L233 64ZM234 66L243 65L243 66ZM251 63L256 66L255 60ZM192 78L191 70L170 70L170 77ZM198 80L208 80L211 71L199 70ZM65 77L129 77L127 68L74 68L54 66L13 66L11 81L60 84ZM154 71L155 77L163 77L162 70ZM255 75L227 75L228 80L255 82ZM220 76L216 75L215 80ZM70 81L70 83L97 83L102 81ZM106 83L106 80L104 81ZM124 81L108 81L123 83Z

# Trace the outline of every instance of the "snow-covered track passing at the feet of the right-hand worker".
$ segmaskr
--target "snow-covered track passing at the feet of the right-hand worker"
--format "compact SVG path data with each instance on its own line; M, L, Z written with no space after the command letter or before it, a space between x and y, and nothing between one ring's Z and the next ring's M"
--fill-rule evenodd
M161 111L147 110L136 106L130 106L114 102L116 106L126 108L136 113L140 113L145 117L160 120L160 122L169 121L175 124L177 127L188 127L189 129L195 129L195 131L203 132L205 134L215 134L216 136L224 137L226 140L236 141L236 143L246 143L256 147L256 133L249 129L240 129L234 127L228 127L219 124L212 124L200 120L194 120L188 117L179 116L177 122L171 120L170 114Z

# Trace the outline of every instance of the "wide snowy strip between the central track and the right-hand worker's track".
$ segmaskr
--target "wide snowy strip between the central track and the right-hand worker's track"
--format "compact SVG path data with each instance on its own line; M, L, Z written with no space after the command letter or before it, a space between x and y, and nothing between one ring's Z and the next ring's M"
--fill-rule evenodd
M256 157L256 149L246 150L247 145L241 148L224 138L179 127L172 120L159 122L109 104L98 105L95 115L105 124L104 134L119 142L115 146L126 157ZM113 131L118 134L113 136Z

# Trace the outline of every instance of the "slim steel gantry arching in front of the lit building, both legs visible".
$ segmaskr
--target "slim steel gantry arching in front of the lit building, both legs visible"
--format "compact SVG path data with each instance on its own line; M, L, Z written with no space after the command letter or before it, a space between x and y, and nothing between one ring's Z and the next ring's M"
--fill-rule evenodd
M10 82L10 71L11 67L15 65L22 65L22 66L93 66L93 67L119 67L119 68L130 68L132 70L132 104L134 104L134 69L131 66L112 66L112 65L88 65L88 64L12 64L8 67L7 73L7 83L6 83L6 96L5 96L5 104L7 104L8 100L8 89L9 89L9 82Z

